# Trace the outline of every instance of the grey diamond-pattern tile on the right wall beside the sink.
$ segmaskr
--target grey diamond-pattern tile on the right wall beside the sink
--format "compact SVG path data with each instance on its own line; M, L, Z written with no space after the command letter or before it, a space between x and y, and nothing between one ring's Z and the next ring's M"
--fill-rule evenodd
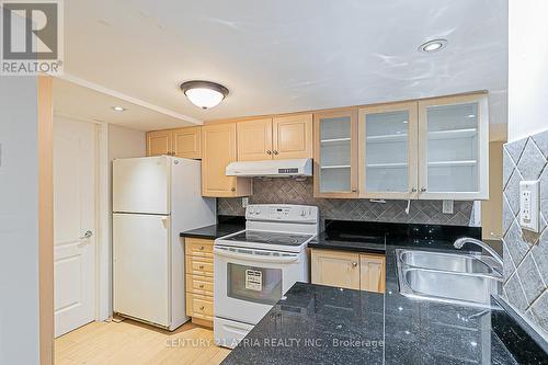
M504 145L504 292L548 337L548 130ZM520 182L540 180L540 233L518 223Z

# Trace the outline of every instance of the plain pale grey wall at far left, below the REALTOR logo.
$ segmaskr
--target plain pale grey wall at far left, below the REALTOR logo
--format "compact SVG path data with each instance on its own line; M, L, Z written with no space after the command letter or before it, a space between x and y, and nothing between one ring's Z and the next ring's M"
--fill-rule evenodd
M0 364L38 363L36 92L0 77Z

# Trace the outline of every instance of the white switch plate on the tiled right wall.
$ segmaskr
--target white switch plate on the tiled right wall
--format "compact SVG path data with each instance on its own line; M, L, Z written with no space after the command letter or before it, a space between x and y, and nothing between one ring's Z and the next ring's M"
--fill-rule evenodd
M540 182L520 182L520 226L534 232L539 231Z

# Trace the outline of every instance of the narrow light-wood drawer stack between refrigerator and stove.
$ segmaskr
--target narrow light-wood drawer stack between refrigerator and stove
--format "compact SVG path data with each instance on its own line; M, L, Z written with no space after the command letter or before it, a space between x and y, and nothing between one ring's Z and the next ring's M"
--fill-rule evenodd
M185 238L186 316L213 327L213 240Z

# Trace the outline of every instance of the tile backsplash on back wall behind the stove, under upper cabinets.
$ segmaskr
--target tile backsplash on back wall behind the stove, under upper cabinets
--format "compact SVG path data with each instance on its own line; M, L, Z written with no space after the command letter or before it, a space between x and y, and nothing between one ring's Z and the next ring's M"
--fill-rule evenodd
M220 215L244 215L241 198L218 198ZM436 224L454 226L479 226L475 219L473 202L455 202L454 213L442 213L441 201L411 201L409 215L407 201L373 203L369 199L315 198L312 179L254 179L250 204L282 203L317 205L323 219L392 221L413 224ZM322 225L323 227L323 225Z

